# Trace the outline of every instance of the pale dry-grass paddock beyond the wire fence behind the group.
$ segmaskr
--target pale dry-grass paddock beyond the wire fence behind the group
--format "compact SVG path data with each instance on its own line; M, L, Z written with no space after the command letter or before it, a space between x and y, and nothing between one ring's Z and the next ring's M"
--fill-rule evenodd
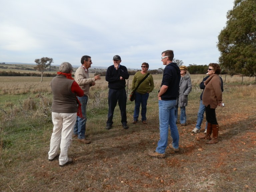
M90 73L90 77L93 77L93 73ZM206 74L191 75L192 85L198 88L202 79ZM241 85L242 76L234 75L221 75L225 85ZM41 77L2 77L0 76L0 95L20 95L28 93L41 93L51 92L50 81L53 77L43 77L43 82L40 83ZM161 86L162 75L153 75L155 88L159 89ZM127 80L127 87L131 89L133 75ZM108 82L105 81L105 77L101 80L97 80L96 85L91 87L91 91L98 91L99 89L106 89ZM243 84L250 85L255 84L255 77L243 77ZM200 90L200 89L199 89Z

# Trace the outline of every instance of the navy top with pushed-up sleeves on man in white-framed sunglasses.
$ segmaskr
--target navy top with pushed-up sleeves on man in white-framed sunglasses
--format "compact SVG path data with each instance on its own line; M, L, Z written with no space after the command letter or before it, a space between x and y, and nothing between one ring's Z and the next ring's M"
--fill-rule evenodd
M176 63L169 63L164 68L162 85L168 86L166 92L161 96L162 100L176 100L179 96L180 69Z

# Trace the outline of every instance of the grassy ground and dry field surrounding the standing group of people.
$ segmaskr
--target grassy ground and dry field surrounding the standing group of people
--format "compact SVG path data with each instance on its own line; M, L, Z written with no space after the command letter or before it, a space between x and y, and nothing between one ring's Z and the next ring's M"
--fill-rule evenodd
M198 139L199 134L191 132L199 107L199 83L204 77L192 75L193 89L186 107L188 125L177 125L180 153L167 149L167 157L157 159L147 155L159 139L157 92L162 76L153 77L156 87L148 100L148 124L131 123L134 102L128 100L127 130L122 129L118 106L113 129L104 129L107 82L104 77L96 81L87 107L86 134L92 143L83 145L74 140L69 149L74 162L65 167L47 160L53 127L52 78L45 77L40 83L40 77L0 77L0 191L256 191L254 78L244 78L244 86L239 76L225 78L225 107L216 109L220 141L206 145ZM128 94L131 80L132 76Z

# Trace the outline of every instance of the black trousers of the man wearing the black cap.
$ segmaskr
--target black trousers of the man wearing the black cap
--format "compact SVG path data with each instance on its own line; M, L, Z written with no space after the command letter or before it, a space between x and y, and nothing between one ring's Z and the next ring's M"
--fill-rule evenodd
M121 111L121 122L122 125L127 124L126 118L126 100L127 95L125 88L123 89L109 89L108 90L108 120L107 125L113 124L114 110L118 101L119 109Z

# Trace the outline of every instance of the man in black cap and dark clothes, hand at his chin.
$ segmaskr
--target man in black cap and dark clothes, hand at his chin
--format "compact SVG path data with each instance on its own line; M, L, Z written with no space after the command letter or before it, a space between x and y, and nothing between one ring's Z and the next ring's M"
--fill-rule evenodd
M108 81L108 120L106 129L111 129L113 124L114 110L118 101L121 111L121 122L124 129L128 129L126 118L126 100L125 79L129 78L127 68L121 63L121 57L115 55L113 57L114 65L108 67L106 72L106 81Z

